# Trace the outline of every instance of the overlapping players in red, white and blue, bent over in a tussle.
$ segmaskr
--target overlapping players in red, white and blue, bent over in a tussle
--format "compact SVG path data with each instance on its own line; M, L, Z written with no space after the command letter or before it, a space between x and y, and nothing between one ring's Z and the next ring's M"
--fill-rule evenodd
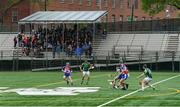
M119 68L117 69L117 76L114 78L112 85L113 88L117 88L116 87L116 82L119 81L119 87L122 90L127 90L129 87L129 84L126 84L125 81L127 80L127 78L129 77L129 71L128 68L126 67L125 64L120 64Z

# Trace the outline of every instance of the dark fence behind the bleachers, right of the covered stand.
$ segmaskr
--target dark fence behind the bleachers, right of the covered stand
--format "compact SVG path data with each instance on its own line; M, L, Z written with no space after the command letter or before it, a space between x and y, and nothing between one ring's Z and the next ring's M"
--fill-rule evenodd
M179 31L180 18L133 21L132 23L130 21L109 22L107 28L108 32Z

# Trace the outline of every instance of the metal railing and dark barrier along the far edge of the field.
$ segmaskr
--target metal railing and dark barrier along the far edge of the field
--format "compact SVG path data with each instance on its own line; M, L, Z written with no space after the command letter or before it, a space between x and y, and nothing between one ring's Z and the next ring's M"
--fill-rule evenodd
M14 50L0 50L0 70L32 70L38 68L57 68L64 66L66 62L70 62L71 65L80 65L85 59L88 59L95 66L107 69L112 68L120 63L126 63L128 66L142 66L143 63L154 66L153 70L163 69L161 63L168 63L166 70L179 71L180 67L180 52L165 52L165 51L132 51L121 52L123 54L106 55L106 56L92 56L91 58L75 56L65 56L62 52L60 57L53 58L52 52L44 52L43 56L35 57L33 55L24 56L17 53L17 49ZM137 70L141 68L136 67ZM133 68L134 69L134 68Z

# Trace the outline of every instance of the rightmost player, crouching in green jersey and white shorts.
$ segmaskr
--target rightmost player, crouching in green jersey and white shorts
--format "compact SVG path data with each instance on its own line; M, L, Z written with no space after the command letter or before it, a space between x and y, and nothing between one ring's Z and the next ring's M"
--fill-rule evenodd
M150 82L152 81L152 73L151 73L151 70L147 67L146 64L143 65L143 69L144 69L144 72L139 75L137 78L140 78L142 76L145 76L144 79L142 79L139 83L141 85L141 89L142 91L144 91L144 88L146 86L149 86L151 88L153 88L153 90L155 90L155 87L153 87Z

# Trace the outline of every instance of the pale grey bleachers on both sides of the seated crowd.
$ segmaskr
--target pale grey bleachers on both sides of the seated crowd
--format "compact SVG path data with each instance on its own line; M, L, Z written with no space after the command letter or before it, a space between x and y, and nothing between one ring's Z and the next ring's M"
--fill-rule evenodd
M0 34L0 50L3 56L22 56L22 48L13 47L13 39L17 34ZM124 56L137 58L141 54L153 55L160 52L160 56L169 56L172 52L180 51L179 34L108 34L106 38L97 36L93 41L95 56ZM47 54L43 52L44 55ZM66 57L66 53L61 52ZM52 52L48 51L52 57ZM56 55L57 56L57 55Z

